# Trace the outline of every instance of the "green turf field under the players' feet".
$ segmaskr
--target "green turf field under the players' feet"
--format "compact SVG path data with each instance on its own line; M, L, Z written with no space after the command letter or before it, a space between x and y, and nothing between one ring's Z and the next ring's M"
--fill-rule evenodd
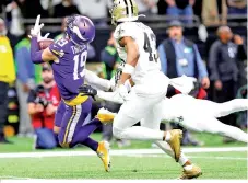
M201 134L197 137L205 147L245 147L245 144L222 144L219 136ZM95 135L94 138L101 138ZM12 138L14 145L0 145L1 152L34 152L32 139ZM131 149L147 149L150 142L133 141ZM113 149L118 149L116 145ZM78 148L73 151L85 151ZM55 150L58 153L61 149ZM43 153L44 150L38 152ZM14 153L15 155L15 153ZM199 179L247 179L247 151L188 152L187 156L202 168ZM96 156L64 156L35 158L0 158L0 179L176 179L181 168L168 156L113 156L111 171L106 173Z

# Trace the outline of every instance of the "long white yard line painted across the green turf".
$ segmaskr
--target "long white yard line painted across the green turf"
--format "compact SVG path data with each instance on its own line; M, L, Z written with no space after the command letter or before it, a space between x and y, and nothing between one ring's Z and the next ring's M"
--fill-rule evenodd
M227 148L185 148L186 153L196 152L234 152L234 151L248 151L247 147L227 147ZM111 150L111 156L123 155L164 155L161 149L123 149ZM44 152L14 152L14 153L0 153L0 158L43 158L43 157L74 157L74 156L95 156L94 151L44 151Z

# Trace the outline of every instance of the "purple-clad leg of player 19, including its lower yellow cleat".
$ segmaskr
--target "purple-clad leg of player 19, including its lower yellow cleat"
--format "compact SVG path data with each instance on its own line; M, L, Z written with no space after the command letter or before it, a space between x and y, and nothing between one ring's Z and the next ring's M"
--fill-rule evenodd
M59 131L59 142L62 147L72 148L79 144L87 146L94 150L104 162L106 171L109 171L109 145L106 141L97 142L88 136L102 125L98 118L94 118L85 124L85 118L92 108L92 99L75 106L67 106Z

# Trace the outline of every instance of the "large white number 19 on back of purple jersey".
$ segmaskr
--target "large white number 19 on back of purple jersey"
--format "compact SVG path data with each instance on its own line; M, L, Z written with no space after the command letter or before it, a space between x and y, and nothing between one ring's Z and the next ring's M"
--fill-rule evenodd
M74 56L74 59L73 59L74 60L74 72L73 72L74 80L83 78L86 58L87 58L87 52L83 52L82 54Z

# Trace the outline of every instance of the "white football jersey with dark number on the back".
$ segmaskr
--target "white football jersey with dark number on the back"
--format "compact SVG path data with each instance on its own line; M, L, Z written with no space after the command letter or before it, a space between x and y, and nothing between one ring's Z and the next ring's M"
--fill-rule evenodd
M114 33L117 42L117 52L123 62L127 61L125 47L119 45L119 39L125 36L132 37L139 47L139 60L134 73L131 76L135 84L152 79L161 70L161 60L156 49L156 36L153 31L141 22L123 22L119 24Z

